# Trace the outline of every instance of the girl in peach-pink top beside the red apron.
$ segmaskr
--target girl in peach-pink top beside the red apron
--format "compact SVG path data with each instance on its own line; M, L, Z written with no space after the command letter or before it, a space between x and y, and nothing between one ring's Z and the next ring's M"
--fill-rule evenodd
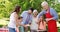
M46 22L43 19L43 16L40 16L39 22L38 22L38 30L39 32L47 32L46 31Z

